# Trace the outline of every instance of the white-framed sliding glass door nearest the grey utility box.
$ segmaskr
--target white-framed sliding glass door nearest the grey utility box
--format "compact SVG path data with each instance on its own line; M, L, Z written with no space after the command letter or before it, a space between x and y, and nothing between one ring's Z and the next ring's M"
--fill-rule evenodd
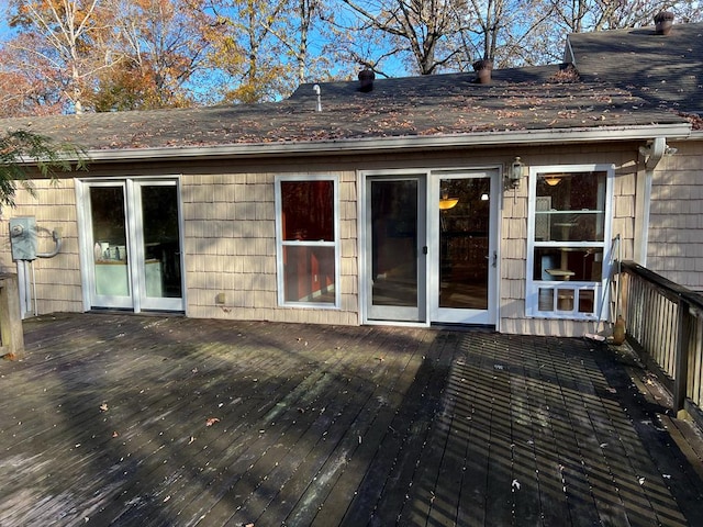
M175 180L87 184L90 307L182 311Z

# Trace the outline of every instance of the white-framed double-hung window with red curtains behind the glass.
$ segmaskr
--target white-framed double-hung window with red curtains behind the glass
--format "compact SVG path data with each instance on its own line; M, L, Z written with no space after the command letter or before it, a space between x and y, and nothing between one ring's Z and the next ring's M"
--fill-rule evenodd
M278 303L339 306L337 178L276 177Z

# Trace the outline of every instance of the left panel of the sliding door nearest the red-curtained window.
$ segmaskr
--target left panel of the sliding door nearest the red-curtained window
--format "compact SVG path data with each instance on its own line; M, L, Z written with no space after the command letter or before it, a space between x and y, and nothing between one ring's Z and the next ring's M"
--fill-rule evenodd
M368 318L425 316L424 180L367 180Z

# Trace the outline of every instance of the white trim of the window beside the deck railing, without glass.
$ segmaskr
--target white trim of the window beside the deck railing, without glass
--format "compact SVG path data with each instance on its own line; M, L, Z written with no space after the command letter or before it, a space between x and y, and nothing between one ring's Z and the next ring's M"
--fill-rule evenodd
M535 240L535 220L537 209L537 179L540 173L545 172L605 172L605 204L603 208L603 240L602 242L569 242L568 244L559 244L557 242L536 242ZM613 228L613 187L615 178L615 166L610 164L592 164L592 165L542 165L529 167L528 179L528 200L527 200L527 254L526 254L526 277L525 277L525 315L536 318L557 318L573 321L595 321L607 316L607 299L606 289L607 277L611 272L612 261L612 228ZM601 281L546 281L535 280L535 248L539 247L559 247L568 245L569 247L599 248L603 251ZM565 288L569 284L570 288ZM539 311L539 290L540 289L573 289L574 302L572 310L559 310L555 305L554 311ZM579 292L593 291L594 302L592 313L580 313ZM602 305L605 304L605 305Z

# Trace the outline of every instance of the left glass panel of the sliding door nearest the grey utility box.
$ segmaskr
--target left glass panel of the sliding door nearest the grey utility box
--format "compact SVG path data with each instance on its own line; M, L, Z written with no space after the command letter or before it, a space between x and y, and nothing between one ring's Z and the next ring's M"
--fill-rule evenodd
M89 201L92 305L132 307L125 188L123 184L90 187Z

